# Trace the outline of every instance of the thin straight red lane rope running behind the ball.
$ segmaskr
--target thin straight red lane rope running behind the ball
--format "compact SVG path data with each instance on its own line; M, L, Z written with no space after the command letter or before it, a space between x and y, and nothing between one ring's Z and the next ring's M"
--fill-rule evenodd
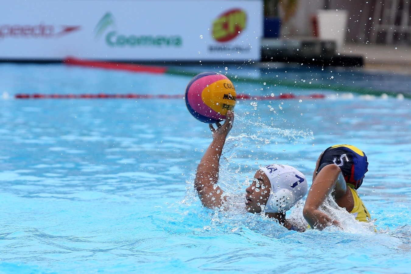
M183 99L180 94L27 94L19 93L14 95L16 99ZM323 94L309 94L309 95L295 95L295 94L280 94L277 96L252 96L247 94L237 94L237 99L251 99L251 100L280 100L280 99L322 99L325 98Z

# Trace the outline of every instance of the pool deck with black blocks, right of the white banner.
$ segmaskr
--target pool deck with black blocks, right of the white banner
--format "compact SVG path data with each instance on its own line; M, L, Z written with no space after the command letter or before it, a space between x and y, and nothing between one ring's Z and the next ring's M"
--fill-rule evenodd
M411 74L411 45L346 43L337 51L332 41L315 37L263 39L262 62L296 62L324 66L364 67Z

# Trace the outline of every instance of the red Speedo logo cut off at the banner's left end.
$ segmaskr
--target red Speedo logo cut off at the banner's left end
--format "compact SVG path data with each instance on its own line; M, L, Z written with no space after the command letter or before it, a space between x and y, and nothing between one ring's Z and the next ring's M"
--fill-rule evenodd
M62 25L55 27L40 23L38 25L0 25L0 38L54 38L80 30L80 26Z

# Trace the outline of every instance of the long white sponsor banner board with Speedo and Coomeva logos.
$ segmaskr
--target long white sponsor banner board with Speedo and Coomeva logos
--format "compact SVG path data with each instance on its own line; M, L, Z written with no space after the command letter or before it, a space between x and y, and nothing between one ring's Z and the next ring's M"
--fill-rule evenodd
M0 59L260 60L259 0L2 0Z

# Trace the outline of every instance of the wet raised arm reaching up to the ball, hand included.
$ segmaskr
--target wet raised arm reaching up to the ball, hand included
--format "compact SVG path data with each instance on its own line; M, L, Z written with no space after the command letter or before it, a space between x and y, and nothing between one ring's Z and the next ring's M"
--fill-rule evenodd
M227 112L224 124L217 123L217 129L210 124L212 142L197 167L194 187L205 207L221 207L224 203L223 190L217 186L219 162L227 135L233 127L234 113Z

